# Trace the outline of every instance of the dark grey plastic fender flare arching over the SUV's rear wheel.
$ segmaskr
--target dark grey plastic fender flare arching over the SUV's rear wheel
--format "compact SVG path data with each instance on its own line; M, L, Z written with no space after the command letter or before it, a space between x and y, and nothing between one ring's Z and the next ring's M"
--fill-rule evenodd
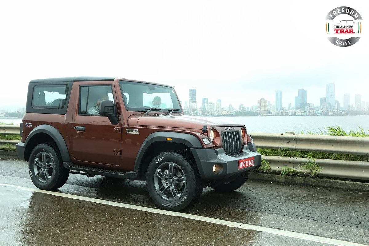
M32 139L32 137L38 133L45 133L51 136L51 138L54 139L56 145L58 146L63 162L70 162L68 148L62 134L51 125L45 124L35 127L35 129L33 129L30 132L30 134L28 134L27 139L24 142L24 145L27 146L27 143Z

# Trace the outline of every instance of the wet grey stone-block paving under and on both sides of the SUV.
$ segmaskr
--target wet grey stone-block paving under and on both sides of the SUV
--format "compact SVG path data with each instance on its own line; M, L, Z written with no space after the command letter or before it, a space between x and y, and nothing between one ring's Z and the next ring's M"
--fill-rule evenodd
M0 160L0 169L5 176L29 178L26 162ZM67 184L107 188L104 193L111 192L112 197L118 190L130 203L155 207L144 181L71 174ZM198 203L369 229L369 194L357 191L247 181L232 193L205 188Z

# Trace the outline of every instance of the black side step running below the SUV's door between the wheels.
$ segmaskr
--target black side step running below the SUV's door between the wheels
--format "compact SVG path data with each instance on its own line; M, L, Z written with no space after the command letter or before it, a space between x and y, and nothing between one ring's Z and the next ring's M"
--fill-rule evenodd
M63 162L63 166L69 170L83 171L86 173L93 173L97 175L113 177L113 178L118 178L118 179L141 180L138 178L138 173L134 171L123 173L120 171L112 171L112 170L106 170L106 169L100 169L100 168L94 168L94 167L76 166L72 162Z

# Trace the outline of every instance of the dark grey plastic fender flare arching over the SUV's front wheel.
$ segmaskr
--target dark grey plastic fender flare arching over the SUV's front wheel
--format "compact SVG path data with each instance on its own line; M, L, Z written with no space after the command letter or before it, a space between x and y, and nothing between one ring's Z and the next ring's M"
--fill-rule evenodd
M169 142L166 140L167 138L171 138L172 143L182 143L189 148L203 148L200 140L191 134L180 133L180 132L154 132L147 136L145 141L142 143L141 148L138 150L134 171L138 172L141 168L142 157L144 157L146 150L152 145L154 142L163 141Z

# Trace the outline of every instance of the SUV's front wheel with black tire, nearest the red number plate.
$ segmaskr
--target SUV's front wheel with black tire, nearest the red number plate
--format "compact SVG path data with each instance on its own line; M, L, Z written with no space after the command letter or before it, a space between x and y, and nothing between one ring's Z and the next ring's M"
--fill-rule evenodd
M168 165L168 169L166 169L166 165ZM173 171L170 171L169 165L174 166L172 168ZM159 207L170 211L180 211L196 202L203 191L203 180L195 165L196 163L193 158L179 151L162 152L155 156L151 160L146 172L146 185L151 199ZM161 171L165 169L161 172L167 175L162 176L163 179L156 176L156 174L159 174L157 173L159 169ZM165 171L168 172L165 173ZM170 173L173 173L174 176L170 176L173 175ZM165 178L169 180L161 183ZM159 195L161 184L162 186L166 184L167 188L163 187L163 193ZM157 191L158 189L159 191ZM176 195L174 195L172 189L176 190Z

